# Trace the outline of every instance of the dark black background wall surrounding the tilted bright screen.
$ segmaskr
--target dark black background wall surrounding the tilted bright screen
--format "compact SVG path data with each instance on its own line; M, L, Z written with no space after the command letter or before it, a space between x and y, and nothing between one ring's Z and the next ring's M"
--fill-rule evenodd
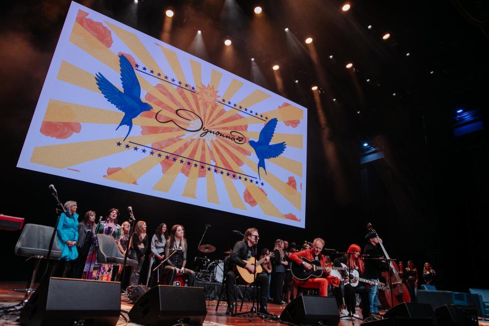
M159 38L162 21L165 19L162 14L165 6L159 2L140 0L141 7L134 16L129 15L127 11L131 3L82 2L94 10ZM288 2L285 3L292 6ZM302 14L309 13L310 17L315 17L311 11L322 13L340 6L336 1L327 4L313 1L307 3L311 6L308 12ZM287 55L286 51L282 53L280 49L276 49L275 52L266 50L263 44L255 46L251 40L252 32L243 32L235 34L237 41L233 44L240 50L236 51L235 61L222 61L222 36L230 32L238 33L236 25L234 32L233 29L227 30L226 19L219 15L222 3L209 2L207 9L189 2L171 4L177 9L178 14L183 12L185 19L175 19L170 44L187 50L196 30L204 25L206 27L202 29L205 30L204 39L211 63L250 79L249 57L261 56L260 58L265 58L260 61L267 80L264 86L278 92L273 83L274 79L268 72L268 66L276 55L276 59L282 62L283 75L289 76L290 79L295 79L298 75L301 81L307 80L307 83L298 88L288 80L284 83L283 91L285 97L309 108L306 228L293 228L16 168L23 140L29 129L69 7L68 1L61 0L10 2L0 14L0 115L3 121L0 130L3 153L0 162L3 181L0 212L22 217L26 223L53 225L56 221L56 205L48 190L48 185L52 183L56 185L62 201L78 202L80 215L92 209L97 212L97 216L105 216L108 209L117 207L122 212L121 220L125 220L126 207L130 205L135 217L147 222L150 234L161 222L167 223L170 227L174 224L184 225L191 259L199 255L196 247L205 224L212 227L208 229L203 243L218 248L209 257L222 259L222 252L239 240L231 230L244 231L249 227L257 227L261 236L260 246L272 247L276 238L302 244L304 240L311 241L319 236L326 240L325 247L345 251L353 242L363 247L366 224L371 222L384 239L390 256L404 261L413 259L419 270L422 270L424 261L430 261L439 273L438 285L441 288L467 290L469 287L489 286L483 268L489 265L489 248L485 239L489 230L487 131L483 129L455 138L452 128L453 110L458 106L480 109L481 120L484 126L487 126L484 94L486 88L483 87L486 64L480 63L468 77L457 77L458 71L467 71L471 61L487 58L487 40L476 26L470 24L455 10L454 6L440 5L443 7L439 10L444 13L440 16L444 18L432 18L428 13L418 13L418 16L409 18L411 20L408 21L399 17L405 17L405 12L415 12L416 8L400 8L400 5L390 2L383 2L382 9L378 4L363 5L364 7L360 8L362 11L357 11L359 20L362 19L362 15L370 15L371 20L377 21L378 25L381 24L381 18L384 18L384 24L391 24L398 35L405 36L404 40L410 40L410 35L414 35L412 39L422 37L420 35L423 27L437 25L436 29L431 30L437 39L450 39L446 34L452 35L452 29L456 28L456 42L435 42L436 44L431 47L425 46L424 39L419 41L416 47L413 43L412 48L418 49L418 53L423 48L426 51L423 57L420 55L417 61L412 63L412 66L405 66L405 62L402 61L404 59L401 58L403 53L399 50L400 45L380 51L376 47L362 45L362 42L373 42L365 41L366 36L363 32L355 33L356 30L348 30L349 37L344 37L346 32L339 30L339 36L328 36L334 39L324 40L322 45L320 42L317 43L325 74L331 84L329 92L320 95L322 106L318 109L308 83L313 83L319 78L307 79L308 75L317 73L309 59L305 59L307 63L303 64L294 60L290 53ZM253 8L253 3L238 2L238 5L241 11L250 11ZM360 4L358 6L360 7ZM268 9L268 12L273 11L271 8ZM378 16L375 16L374 13L377 11ZM248 26L251 19L247 15L249 14L243 16L246 18L243 20L246 22L243 23L244 27ZM399 22L396 22L396 17ZM270 25L283 28L283 23L279 22L279 18L283 17L269 18ZM314 29L332 28L331 24L340 24L336 16L329 18L331 19L328 22L324 22L326 25L317 25ZM313 18L311 24L314 23L312 20ZM411 25L415 20L419 20L418 25ZM302 25L303 20L295 18L290 21L298 26ZM455 27L450 27L452 25ZM301 33L297 32L297 38L306 35L306 32ZM269 34L273 38L273 33ZM370 88L362 82L360 87L363 96L355 92L358 85L352 83L350 76L344 76L342 64L340 67L328 66L328 52L323 47L331 45L329 42L333 43L338 51L341 48L344 52L349 50L351 53L357 53L350 55L350 58L357 56L357 62L364 65L364 70L372 69L382 86ZM274 46L269 45L272 49ZM360 53L355 52L358 49L356 46L361 47ZM467 53L457 59L457 56L463 53L452 53L451 50L459 48L465 48L466 51L460 52ZM367 49L371 52L365 54ZM266 59L267 56L269 59ZM346 55L341 58L346 59ZM440 66L446 64L445 66L449 67L446 70L448 77L440 72L445 77L428 80L427 77L415 74L414 71L426 73L426 59L438 62ZM392 71L388 67L391 63L400 67L399 70L412 71L407 75L400 75L399 70ZM310 71L314 73L311 74ZM358 73L360 76L361 72ZM386 87L386 84L391 88L394 88L393 85L397 89L403 87L400 93L402 98L394 100L389 97L390 89L382 88ZM331 101L333 96L338 97L336 103ZM341 184L345 189L341 195L335 181L338 171L331 169L330 157L323 150L323 129L318 121L317 110L321 110L327 117L330 127L329 141L335 145L338 153ZM365 116L355 115L357 110L366 112ZM366 140L383 149L385 158L360 165L361 144ZM25 281L29 278L32 262L13 254L19 234L20 231L0 232L0 248L4 249L6 266L0 280Z

